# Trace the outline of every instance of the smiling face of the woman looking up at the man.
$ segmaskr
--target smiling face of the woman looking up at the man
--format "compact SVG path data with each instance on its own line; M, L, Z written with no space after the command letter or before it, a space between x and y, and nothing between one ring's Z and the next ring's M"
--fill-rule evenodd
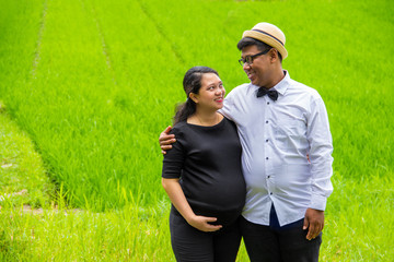
M215 73L205 73L198 94L192 94L192 99L199 109L218 110L223 107L225 90L220 78Z

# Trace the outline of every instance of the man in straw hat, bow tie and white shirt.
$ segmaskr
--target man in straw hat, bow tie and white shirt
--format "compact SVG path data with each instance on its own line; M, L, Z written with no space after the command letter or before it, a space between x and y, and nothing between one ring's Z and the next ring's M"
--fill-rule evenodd
M246 204L241 228L251 261L318 261L333 145L318 93L290 79L285 34L258 23L243 33L240 63L251 83L235 87L221 112L237 126ZM160 135L163 151L174 138Z

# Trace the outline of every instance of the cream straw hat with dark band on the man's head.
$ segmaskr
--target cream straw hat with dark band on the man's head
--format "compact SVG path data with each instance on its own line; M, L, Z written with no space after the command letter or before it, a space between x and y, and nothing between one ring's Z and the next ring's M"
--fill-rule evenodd
M282 59L287 58L288 56L288 52L285 48L285 34L281 32L281 29L273 24L258 23L252 29L245 31L242 35L242 38L244 37L252 37L276 48L282 56Z

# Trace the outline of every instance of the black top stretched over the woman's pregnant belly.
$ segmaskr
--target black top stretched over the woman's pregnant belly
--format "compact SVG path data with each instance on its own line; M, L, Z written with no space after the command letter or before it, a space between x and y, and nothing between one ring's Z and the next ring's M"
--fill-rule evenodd
M245 204L241 168L242 147L235 124L227 118L212 127L178 122L176 142L163 159L163 178L179 183L196 215L213 216L213 224L230 225Z

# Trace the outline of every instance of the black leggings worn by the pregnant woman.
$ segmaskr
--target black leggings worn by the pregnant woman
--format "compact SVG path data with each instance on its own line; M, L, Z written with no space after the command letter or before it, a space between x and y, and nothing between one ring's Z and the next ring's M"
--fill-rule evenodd
M171 211L170 231L172 248L178 262L231 262L236 259L241 242L239 219L218 231L205 233Z

